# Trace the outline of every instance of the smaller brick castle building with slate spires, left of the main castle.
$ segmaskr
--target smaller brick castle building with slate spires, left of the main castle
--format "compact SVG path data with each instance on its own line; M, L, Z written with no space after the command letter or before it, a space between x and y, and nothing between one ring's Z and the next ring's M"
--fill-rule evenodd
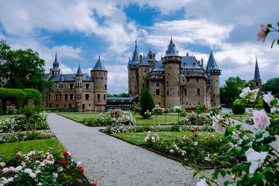
M75 74L62 75L55 55L53 68L44 79L54 82L52 89L42 93L43 107L68 107L76 111L105 111L107 102L107 70L99 59L91 75L82 73L80 65Z

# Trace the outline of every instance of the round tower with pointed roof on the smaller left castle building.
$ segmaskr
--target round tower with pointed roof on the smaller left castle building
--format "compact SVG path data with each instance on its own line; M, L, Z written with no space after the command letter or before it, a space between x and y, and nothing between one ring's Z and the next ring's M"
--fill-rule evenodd
M94 80L94 111L105 111L107 104L107 70L99 59L91 70L91 77Z

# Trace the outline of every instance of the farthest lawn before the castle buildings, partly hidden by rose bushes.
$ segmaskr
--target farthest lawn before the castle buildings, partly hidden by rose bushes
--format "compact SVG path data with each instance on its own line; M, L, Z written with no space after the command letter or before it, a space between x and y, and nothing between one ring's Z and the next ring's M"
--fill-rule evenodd
M127 113L126 113L127 114ZM59 113L60 116L64 116L66 118L70 118L74 121L77 122L83 122L84 118L89 117L89 118L97 118L100 113ZM135 118L136 119L136 118ZM182 118L180 117L179 120ZM150 118L147 119L147 125L153 125L155 124L156 121L156 116L151 116ZM177 115L170 115L167 114L167 124L172 124L177 122ZM157 123L160 125L165 125L165 115L161 115L157 117ZM139 125L146 125L146 119L142 118L142 116L138 115L138 124Z

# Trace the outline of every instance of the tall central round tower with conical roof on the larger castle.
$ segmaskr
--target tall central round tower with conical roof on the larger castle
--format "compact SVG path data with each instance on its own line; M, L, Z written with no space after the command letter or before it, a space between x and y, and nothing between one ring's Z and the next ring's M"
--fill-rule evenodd
M162 62L165 65L165 107L173 109L180 102L180 65L182 57L176 51L172 38Z

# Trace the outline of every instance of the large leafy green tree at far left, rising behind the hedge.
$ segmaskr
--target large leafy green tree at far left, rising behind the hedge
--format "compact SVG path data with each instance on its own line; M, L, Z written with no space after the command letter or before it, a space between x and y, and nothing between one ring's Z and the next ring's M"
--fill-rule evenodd
M35 88L43 92L47 83L43 79L45 61L32 49L11 50L0 40L0 72L6 77L6 88Z

